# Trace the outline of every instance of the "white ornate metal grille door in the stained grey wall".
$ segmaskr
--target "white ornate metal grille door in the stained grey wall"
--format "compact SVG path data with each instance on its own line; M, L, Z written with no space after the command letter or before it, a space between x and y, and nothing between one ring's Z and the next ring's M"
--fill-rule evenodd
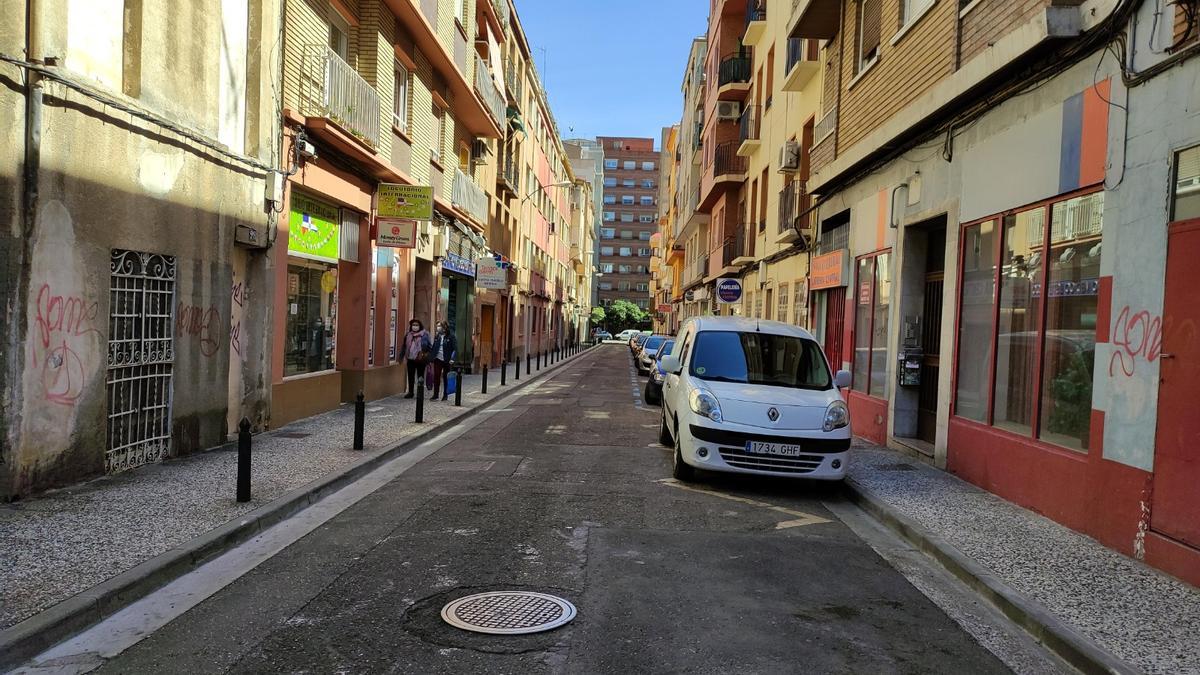
M108 444L116 473L170 454L175 257L114 249L108 319Z

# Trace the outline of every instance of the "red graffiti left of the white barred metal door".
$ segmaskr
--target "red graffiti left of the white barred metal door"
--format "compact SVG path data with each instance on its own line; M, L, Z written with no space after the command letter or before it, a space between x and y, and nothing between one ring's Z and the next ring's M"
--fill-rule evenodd
M61 294L43 283L35 299L31 362L40 372L46 400L73 406L83 394L91 364L80 354L90 353L86 341L100 335L96 315L100 307L82 295Z

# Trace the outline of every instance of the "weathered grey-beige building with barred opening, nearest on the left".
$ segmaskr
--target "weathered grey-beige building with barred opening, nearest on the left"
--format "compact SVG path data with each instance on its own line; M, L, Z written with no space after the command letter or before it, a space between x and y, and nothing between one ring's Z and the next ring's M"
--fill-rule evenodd
M0 1L0 501L269 419L281 6L209 5Z

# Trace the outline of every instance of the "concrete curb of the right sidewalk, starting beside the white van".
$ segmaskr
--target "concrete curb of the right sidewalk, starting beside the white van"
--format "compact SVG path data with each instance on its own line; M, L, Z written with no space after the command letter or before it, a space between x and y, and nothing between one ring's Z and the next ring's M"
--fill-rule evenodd
M936 560L947 572L958 577L1002 611L1013 623L1021 627L1039 644L1080 673L1122 675L1142 673L1092 639L1080 634L1073 626L1051 614L1036 601L1019 593L984 566L893 508L853 478L847 478L845 484L851 500L863 510Z

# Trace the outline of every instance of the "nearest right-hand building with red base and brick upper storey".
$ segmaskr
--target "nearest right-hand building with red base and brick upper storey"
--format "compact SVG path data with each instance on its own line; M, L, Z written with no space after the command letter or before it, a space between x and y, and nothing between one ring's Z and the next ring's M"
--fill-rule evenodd
M1195 2L776 6L854 432L1200 583Z

